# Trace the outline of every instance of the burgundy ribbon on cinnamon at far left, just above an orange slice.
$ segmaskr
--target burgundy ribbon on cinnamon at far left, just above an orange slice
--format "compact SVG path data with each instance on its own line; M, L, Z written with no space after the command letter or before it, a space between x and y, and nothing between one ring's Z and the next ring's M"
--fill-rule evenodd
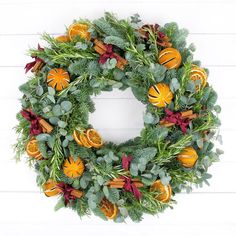
M28 121L30 121L30 134L38 135L43 132L42 127L39 123L40 117L35 115L32 111L22 110L21 115Z

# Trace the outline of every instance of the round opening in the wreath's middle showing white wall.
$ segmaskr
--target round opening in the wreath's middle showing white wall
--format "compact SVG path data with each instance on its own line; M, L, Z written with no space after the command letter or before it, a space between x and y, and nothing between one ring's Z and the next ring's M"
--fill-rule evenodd
M134 97L131 89L102 92L93 101L96 110L90 114L89 123L104 141L119 144L140 135L145 105Z

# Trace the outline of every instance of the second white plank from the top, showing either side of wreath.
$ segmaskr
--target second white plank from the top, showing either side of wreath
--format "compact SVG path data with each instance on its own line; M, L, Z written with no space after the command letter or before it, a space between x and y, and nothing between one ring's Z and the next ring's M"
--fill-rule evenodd
M24 66L32 59L26 56L26 51L31 47L42 46L38 35L2 35L0 36L0 51L4 57L0 58L0 66ZM201 60L204 66L220 65L235 66L236 58L233 51L236 50L236 34L234 35L190 35L189 42L197 46L195 59ZM220 51L220 56L216 56L217 48L224 42L224 50ZM14 56L12 56L14 55ZM227 58L227 60L226 60Z

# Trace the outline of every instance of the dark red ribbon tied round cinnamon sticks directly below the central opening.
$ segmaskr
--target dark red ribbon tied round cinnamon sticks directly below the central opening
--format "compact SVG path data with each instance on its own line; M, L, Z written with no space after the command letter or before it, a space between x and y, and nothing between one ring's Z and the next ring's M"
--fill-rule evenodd
M132 161L131 156L122 156L122 168L124 170L129 170L131 161ZM124 179L124 181L125 181L125 184L124 184L124 187L123 187L125 189L125 191L133 193L135 198L140 200L141 197L142 197L142 194L138 190L136 185L132 182L131 177L122 176L121 178Z

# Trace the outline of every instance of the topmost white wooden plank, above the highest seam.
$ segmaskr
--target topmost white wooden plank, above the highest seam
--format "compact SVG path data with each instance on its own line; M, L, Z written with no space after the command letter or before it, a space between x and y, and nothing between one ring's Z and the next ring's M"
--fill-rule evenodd
M44 31L61 33L64 31L64 25L69 25L73 19L98 18L104 11L117 12L120 17L128 17L138 12L146 23L157 22L162 25L177 21L193 33L236 33L233 0L129 0L125 5L121 5L119 0L102 0L100 4L96 3L94 0L69 0L67 4L62 0L4 0L0 3L0 22L7 24L1 25L1 34L32 34ZM12 16L17 16L19 12L21 14L17 18L16 26L16 20ZM223 15L222 20L224 12L227 14Z

